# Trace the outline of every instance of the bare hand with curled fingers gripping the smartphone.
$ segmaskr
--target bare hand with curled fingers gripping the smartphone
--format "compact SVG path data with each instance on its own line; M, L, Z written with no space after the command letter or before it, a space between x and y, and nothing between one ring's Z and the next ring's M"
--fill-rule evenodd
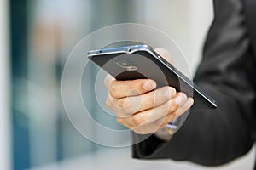
M183 115L194 102L172 87L154 90L154 80L117 81L108 75L105 86L108 89L108 109L116 114L120 124L139 134L154 133L165 127Z

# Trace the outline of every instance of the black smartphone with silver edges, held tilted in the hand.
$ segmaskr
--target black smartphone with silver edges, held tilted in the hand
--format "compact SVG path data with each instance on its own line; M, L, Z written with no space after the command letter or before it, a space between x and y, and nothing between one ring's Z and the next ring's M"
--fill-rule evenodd
M172 86L192 97L195 109L218 106L215 99L146 44L90 50L87 56L117 80L153 79L157 88Z

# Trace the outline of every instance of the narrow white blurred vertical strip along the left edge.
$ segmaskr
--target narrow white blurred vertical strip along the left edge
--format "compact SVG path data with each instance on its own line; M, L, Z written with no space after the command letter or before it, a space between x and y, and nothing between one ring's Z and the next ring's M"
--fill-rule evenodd
M11 169L8 0L0 1L0 169Z

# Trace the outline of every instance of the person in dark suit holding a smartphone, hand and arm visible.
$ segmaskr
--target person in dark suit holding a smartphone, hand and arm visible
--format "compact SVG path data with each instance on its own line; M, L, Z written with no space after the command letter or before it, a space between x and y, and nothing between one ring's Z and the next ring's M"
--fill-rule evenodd
M194 81L218 100L218 109L195 111L192 107L183 127L172 138L161 133L161 127L187 111L193 99L172 87L152 91L154 80L121 82L106 77L108 108L116 113L119 123L134 130L134 140L157 130L133 146L134 157L214 166L251 149L256 137L256 57L251 48L253 40L248 37L252 23L247 23L245 15L247 1L214 1L215 19ZM149 116L152 111L154 116Z

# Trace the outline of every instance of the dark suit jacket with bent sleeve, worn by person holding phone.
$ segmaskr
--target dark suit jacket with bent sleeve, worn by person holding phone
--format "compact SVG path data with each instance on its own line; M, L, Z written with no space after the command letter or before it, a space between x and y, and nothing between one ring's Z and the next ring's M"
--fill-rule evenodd
M151 135L132 147L133 157L171 158L214 166L251 149L256 136L256 65L244 7L243 0L214 0L215 19L195 83L218 100L218 109L191 109L170 141ZM143 135L134 133L134 140L140 138Z

